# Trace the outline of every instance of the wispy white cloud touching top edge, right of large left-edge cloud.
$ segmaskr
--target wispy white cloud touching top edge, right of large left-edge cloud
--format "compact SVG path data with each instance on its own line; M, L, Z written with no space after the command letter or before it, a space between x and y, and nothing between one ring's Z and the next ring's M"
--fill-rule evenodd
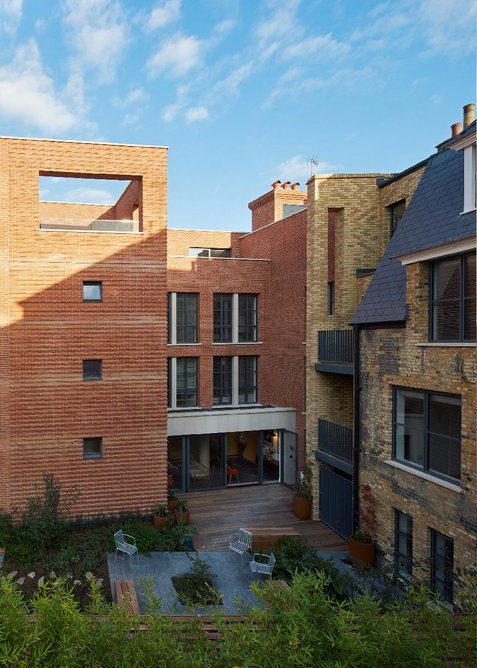
M75 65L110 81L129 42L125 11L117 0L63 0L64 23L76 50Z

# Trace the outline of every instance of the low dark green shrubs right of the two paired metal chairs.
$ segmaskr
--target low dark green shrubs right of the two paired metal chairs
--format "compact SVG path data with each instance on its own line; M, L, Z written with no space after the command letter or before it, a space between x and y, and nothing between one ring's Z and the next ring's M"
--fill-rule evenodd
M320 572L325 576L326 590L339 599L343 599L345 589L351 587L349 578L339 573L329 561L314 554L301 537L285 537L275 550L275 557L273 577L276 579L290 582L297 573Z

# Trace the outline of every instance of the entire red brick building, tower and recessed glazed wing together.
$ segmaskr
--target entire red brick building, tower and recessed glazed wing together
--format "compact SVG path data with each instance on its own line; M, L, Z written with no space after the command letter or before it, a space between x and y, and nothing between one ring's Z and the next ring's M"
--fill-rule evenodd
M275 184L250 234L167 230L166 155L0 139L0 507L47 471L82 515L150 511L167 461L183 490L295 481L305 193ZM125 188L43 202L43 176Z

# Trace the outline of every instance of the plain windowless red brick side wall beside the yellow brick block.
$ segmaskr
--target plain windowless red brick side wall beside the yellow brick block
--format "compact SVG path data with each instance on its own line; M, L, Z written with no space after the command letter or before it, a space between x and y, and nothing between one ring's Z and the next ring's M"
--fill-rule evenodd
M269 258L268 311L263 343L267 368L262 381L267 395L262 401L297 409L300 466L305 443L305 290L306 210L259 229L240 239L242 257ZM266 318L263 322L263 318Z

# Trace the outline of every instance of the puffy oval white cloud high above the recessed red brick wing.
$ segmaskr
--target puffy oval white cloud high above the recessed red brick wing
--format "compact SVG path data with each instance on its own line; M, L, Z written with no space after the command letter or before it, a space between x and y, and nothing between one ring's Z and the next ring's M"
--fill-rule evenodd
M174 35L149 59L147 69L150 76L161 72L175 77L184 76L197 67L202 60L202 42L197 37Z

